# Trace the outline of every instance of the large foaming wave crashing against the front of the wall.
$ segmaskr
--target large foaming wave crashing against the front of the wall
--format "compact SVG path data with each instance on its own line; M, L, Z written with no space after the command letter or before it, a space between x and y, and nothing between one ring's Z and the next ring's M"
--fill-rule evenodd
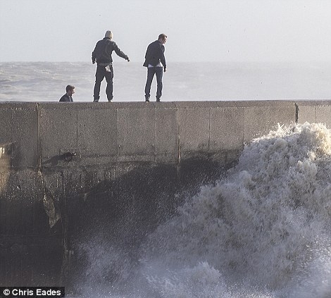
M81 240L89 269L80 297L331 297L330 170L322 124L255 139L135 258L99 233Z

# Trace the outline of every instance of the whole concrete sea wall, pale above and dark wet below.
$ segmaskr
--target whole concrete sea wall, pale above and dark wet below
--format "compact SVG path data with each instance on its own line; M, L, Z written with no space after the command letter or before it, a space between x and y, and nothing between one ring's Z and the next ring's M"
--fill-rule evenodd
M0 285L75 283L96 229L137 247L244 144L305 121L330 127L331 101L1 103Z

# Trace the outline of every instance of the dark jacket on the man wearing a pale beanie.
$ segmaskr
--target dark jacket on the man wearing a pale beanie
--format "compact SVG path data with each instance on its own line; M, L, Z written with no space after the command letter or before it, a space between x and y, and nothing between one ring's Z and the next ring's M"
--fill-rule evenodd
M92 51L92 63L96 61L98 64L111 65L111 63L113 63L113 58L111 58L113 51L115 51L115 53L121 58L124 58L125 60L128 59L127 55L118 48L115 42L110 38L105 37L104 39L99 40L99 42L96 42L94 51Z

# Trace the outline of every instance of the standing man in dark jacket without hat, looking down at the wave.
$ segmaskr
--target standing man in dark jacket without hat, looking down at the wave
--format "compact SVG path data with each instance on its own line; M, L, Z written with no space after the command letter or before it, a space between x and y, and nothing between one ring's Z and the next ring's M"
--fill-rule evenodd
M145 62L143 66L147 68L147 80L145 85L145 100L149 101L151 96L151 82L153 81L154 74L156 75L156 101L160 101L162 96L162 77L163 70L167 70L164 56L164 46L167 41L167 36L164 34L158 35L158 40L149 44L146 50ZM163 66L163 69L162 69Z

